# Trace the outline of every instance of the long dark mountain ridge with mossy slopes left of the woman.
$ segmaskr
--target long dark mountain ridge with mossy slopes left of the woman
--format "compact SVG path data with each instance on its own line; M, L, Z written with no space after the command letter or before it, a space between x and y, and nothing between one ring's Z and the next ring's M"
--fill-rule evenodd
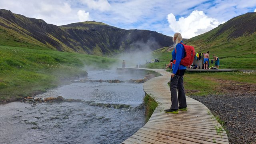
M172 37L149 30L124 30L95 21L56 26L0 10L0 45L4 46L101 56L172 44Z

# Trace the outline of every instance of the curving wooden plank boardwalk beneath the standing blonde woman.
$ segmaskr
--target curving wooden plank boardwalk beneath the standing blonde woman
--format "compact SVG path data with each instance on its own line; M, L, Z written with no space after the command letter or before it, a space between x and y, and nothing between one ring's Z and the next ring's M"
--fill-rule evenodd
M160 104L149 121L122 144L228 144L225 130L210 110L188 96L188 111L179 111L179 114L165 113L164 110L171 106L170 88L167 85L170 72L154 71L162 76L145 82L143 89Z

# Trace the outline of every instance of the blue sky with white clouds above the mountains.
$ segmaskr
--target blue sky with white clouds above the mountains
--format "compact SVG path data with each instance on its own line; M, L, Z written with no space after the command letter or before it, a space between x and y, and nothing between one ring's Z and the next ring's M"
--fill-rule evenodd
M0 9L57 26L95 20L122 29L192 38L256 12L256 0L0 0Z

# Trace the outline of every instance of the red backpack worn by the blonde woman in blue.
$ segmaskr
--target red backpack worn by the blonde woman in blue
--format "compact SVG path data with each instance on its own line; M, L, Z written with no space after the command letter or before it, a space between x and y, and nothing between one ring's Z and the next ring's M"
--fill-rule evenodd
M180 64L182 66L190 66L193 63L193 60L195 57L195 49L193 46L183 44L182 42L180 42L180 44L184 46L184 50L185 50L185 57L181 59ZM175 53L176 53L176 48L175 48Z

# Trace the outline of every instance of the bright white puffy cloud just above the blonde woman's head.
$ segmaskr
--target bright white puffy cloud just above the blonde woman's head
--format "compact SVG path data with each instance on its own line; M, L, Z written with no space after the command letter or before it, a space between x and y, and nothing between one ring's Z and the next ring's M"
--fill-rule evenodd
M174 32L180 32L183 38L192 38L216 28L222 22L210 18L203 11L194 10L188 17L176 21L174 14L168 14L169 27Z

